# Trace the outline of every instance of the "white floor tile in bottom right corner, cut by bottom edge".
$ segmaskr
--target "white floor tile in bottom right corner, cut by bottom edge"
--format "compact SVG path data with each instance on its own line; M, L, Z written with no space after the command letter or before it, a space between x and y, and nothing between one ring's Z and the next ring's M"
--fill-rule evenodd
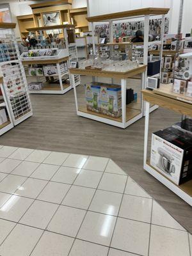
M189 256L188 233L152 225L149 256Z

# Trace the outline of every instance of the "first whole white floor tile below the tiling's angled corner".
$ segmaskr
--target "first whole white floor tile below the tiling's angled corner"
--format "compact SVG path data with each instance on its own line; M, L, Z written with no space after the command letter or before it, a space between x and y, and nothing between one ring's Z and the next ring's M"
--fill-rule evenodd
M113 173L104 173L100 180L99 189L124 193L127 176Z

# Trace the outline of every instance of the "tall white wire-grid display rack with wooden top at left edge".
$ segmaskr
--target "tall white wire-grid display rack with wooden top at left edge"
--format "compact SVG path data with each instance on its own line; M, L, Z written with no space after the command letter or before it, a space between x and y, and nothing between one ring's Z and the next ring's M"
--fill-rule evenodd
M17 125L33 115L24 67L19 58L15 38L15 23L0 23L0 72L4 95L13 124Z

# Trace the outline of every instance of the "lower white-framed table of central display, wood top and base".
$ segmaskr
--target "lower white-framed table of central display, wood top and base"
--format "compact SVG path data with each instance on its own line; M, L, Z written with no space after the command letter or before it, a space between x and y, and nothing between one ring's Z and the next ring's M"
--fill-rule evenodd
M76 86L74 87L74 95L76 100L76 111L78 116L84 116L99 122L103 122L110 125L115 125L120 128L126 128L133 124L143 116L143 104L141 99L137 99L136 102L132 102L126 106L126 83L127 78L142 74L141 89L144 88L145 77L146 77L146 65L140 65L137 68L129 70L127 72L111 72L105 70L88 70L81 68L70 68L70 74L84 75L90 77L109 77L117 78L121 80L121 96L122 96L122 116L115 118L113 116L104 115L102 113L96 113L86 109L86 104L84 106L78 106L78 97Z

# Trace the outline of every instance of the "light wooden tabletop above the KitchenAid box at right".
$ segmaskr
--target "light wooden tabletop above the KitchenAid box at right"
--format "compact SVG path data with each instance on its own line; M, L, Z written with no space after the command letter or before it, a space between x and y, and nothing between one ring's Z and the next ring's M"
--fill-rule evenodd
M151 90L142 90L141 92L143 93L143 100L147 102L173 110L177 113L180 113L181 115L192 116L192 104L183 101L183 99L181 100L179 94L177 98L175 98L175 95L172 97L172 93L163 95Z

